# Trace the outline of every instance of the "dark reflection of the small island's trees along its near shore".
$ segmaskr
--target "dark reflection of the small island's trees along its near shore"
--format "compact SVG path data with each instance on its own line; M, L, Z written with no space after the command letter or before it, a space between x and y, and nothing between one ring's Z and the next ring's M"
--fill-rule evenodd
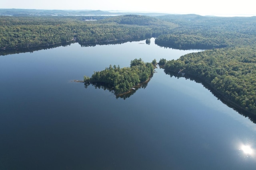
M88 88L88 86L92 85L94 86L94 88L98 88L98 89L103 89L103 90L108 90L109 92L111 92L112 94L114 94L116 96L116 99L121 98L121 99L126 99L126 98L130 98L130 96L132 96L133 94L135 94L135 92L139 89L145 89L148 86L148 82L143 82L138 84L137 86L134 87L133 89L130 89L128 92L122 93L122 94L116 94L115 89L112 85L110 84L105 84L105 83L98 83L98 82L94 82L94 83L84 83L84 88Z

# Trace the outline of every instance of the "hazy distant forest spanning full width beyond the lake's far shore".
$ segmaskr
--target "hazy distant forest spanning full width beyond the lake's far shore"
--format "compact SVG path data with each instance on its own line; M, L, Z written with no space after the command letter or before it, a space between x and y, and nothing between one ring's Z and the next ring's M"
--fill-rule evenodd
M96 43L157 37L156 44L179 49L254 45L256 41L255 17L0 16L0 25L0 49L50 45L73 38L79 43Z

